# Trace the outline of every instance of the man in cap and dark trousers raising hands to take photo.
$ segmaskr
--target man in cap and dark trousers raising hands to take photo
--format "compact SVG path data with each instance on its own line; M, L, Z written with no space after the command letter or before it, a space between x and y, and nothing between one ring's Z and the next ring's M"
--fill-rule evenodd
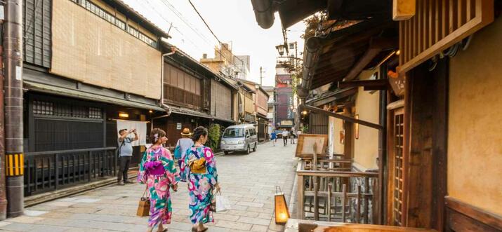
M131 135L134 134L134 136ZM138 134L136 129L128 131L127 129L119 130L119 174L117 175L117 184L124 185L130 184L132 182L127 178L127 171L129 170L129 164L131 163L131 157L133 156L133 141L138 140ZM122 182L122 177L124 177L124 182Z

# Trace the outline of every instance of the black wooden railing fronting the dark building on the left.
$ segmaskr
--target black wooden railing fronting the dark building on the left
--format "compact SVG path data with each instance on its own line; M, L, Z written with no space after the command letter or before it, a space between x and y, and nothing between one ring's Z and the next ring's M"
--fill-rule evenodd
M117 174L115 147L25 153L25 196Z

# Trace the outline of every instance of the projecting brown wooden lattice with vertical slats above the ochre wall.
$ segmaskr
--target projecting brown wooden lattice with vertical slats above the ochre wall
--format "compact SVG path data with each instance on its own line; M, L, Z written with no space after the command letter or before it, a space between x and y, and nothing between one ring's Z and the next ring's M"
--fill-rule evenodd
M399 22L405 73L494 20L494 0L416 0L416 15Z

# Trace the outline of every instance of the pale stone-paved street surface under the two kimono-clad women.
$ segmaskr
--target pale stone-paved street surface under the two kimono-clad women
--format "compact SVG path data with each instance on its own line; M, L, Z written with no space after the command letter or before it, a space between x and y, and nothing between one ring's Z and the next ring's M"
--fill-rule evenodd
M275 186L289 203L293 189L296 146L258 146L258 151L216 156L222 195L232 210L215 214L209 231L282 231L272 217ZM169 231L191 231L188 193L184 183L172 193L173 221ZM0 221L0 231L146 231L147 217L136 217L143 185L100 189L29 207L25 215Z

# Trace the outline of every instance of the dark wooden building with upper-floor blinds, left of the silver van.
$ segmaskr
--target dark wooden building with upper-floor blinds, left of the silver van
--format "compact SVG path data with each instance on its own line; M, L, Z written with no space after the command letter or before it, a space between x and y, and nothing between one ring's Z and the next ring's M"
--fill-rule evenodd
M173 46L166 44L166 48ZM164 58L164 102L170 114L154 118L155 126L166 129L170 147L180 139L183 128L235 124L233 112L237 110L232 106L237 86L182 50L175 50Z

